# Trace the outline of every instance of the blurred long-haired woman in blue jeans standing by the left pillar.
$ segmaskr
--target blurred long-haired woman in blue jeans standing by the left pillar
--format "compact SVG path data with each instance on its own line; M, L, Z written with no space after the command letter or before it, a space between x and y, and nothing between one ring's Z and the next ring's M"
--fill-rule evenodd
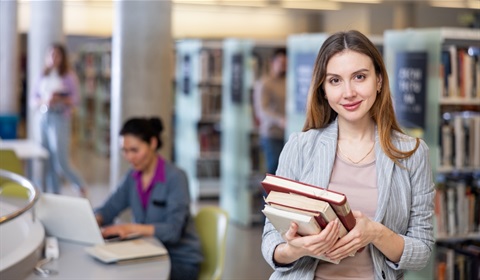
M60 175L63 175L81 196L86 197L85 182L70 166L69 160L72 110L79 103L80 93L77 77L62 44L50 46L33 96L41 113L41 143L49 152L47 190L60 193Z

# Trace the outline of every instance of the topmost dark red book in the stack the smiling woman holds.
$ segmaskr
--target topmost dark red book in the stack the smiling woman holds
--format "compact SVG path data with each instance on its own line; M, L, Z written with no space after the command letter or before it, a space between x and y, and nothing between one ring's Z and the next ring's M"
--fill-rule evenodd
M268 173L261 184L267 194L271 191L295 193L328 202L347 231L355 227L355 217L347 197L342 193Z

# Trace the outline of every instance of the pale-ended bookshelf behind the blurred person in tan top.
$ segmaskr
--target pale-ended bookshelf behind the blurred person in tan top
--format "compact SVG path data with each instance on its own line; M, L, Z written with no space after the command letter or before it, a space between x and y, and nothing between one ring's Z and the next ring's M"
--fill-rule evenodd
M268 72L272 52L278 47L285 47L285 42L223 41L220 205L233 221L246 226L263 221L260 181L266 172L253 111L254 85Z

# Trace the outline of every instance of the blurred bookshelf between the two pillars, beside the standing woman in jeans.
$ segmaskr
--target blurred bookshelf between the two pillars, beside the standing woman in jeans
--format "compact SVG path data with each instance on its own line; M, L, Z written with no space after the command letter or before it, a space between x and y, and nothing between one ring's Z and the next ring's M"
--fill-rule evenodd
M81 90L80 140L101 154L110 151L110 42L89 43L81 47L76 62Z

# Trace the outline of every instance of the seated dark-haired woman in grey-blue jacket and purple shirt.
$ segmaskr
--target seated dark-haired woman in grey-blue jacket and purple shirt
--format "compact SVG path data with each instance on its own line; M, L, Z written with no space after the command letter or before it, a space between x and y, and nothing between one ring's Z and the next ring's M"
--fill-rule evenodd
M157 154L162 146L162 130L159 118L132 118L125 122L120 143L132 168L117 190L95 211L95 216L104 237L155 236L170 255L170 278L197 279L203 257L190 215L187 176ZM134 222L112 225L128 207Z

